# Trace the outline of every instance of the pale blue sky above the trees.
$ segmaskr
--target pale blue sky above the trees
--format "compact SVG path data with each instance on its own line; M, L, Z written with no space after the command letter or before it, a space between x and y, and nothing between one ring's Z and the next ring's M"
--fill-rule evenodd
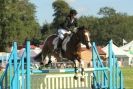
M30 0L36 6L36 19L42 26L53 21L54 10L52 3L55 0ZM70 7L78 12L78 16L98 16L102 7L111 7L117 12L133 15L133 0L65 0Z

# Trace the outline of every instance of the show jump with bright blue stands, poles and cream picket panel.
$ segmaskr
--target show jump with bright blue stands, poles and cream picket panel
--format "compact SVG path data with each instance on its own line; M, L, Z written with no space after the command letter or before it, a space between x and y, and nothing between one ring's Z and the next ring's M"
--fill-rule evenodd
M123 74L112 52L112 41L109 42L106 66L102 63L94 42L92 50L93 67L85 68L85 80L81 81L79 73L78 79L74 80L74 68L31 69L30 42L27 42L20 61L17 56L17 43L14 42L6 69L1 74L0 89L124 89ZM81 69L78 69L78 72L80 71Z

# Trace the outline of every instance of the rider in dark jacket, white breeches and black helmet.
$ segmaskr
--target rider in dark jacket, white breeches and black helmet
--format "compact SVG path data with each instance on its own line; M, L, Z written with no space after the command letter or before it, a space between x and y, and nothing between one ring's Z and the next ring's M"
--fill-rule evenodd
M60 25L60 28L58 29L59 41L56 49L57 52L61 50L64 34L71 34L70 30L75 30L78 27L76 15L77 11L71 9L69 15L66 17L65 22Z

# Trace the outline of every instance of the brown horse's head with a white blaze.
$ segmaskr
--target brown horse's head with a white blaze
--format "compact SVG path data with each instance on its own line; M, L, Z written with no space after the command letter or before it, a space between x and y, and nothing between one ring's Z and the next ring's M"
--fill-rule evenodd
M89 30L87 30L85 27L79 27L76 31L76 34L79 41L86 45L86 48L89 49L91 47Z

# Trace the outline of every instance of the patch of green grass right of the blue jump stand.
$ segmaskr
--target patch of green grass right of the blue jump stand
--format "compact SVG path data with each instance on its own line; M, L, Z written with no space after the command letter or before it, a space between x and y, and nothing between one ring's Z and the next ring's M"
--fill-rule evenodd
M123 67L121 70L124 76L124 87L133 89L133 67Z

